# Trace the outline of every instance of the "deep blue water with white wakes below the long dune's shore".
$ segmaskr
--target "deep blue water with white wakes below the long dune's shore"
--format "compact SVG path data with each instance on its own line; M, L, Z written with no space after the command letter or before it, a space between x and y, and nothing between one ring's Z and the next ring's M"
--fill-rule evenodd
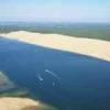
M110 110L110 63L0 38L0 72L59 110Z

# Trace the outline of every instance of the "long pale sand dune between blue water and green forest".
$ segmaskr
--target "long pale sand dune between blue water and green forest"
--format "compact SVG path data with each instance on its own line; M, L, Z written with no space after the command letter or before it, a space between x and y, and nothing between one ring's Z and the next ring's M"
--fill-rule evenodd
M88 55L110 62L110 42L107 41L24 31L1 34L1 36L44 47Z

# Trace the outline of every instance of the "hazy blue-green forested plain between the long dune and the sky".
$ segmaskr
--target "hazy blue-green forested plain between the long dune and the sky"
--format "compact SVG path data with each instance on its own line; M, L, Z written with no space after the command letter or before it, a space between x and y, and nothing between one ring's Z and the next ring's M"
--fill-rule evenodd
M0 23L1 33L21 30L110 41L110 24L107 23Z

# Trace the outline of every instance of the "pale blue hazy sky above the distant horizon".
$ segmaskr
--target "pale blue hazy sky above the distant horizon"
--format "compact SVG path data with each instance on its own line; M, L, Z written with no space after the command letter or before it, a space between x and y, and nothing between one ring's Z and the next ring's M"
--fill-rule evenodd
M0 0L0 21L110 22L110 0Z

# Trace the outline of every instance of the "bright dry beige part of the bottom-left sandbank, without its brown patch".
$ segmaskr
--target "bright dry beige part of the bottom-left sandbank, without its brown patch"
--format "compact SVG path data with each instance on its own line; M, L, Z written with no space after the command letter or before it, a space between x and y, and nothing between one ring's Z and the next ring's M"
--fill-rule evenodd
M23 110L26 107L38 107L38 102L22 98L0 98L0 110Z

